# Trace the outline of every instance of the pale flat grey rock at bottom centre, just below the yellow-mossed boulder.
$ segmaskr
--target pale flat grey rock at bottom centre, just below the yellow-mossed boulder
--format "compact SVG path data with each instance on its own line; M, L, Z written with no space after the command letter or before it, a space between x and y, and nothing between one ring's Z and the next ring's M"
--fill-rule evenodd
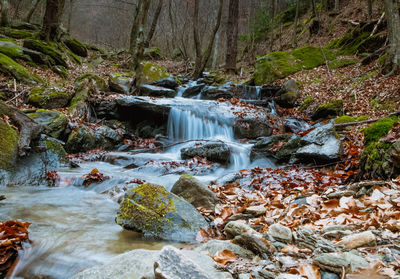
M245 259L252 259L254 257L253 252L246 250L239 245L233 244L231 241L228 240L211 240L194 249L194 251L196 252L207 252L212 257L224 250L232 251L233 253Z

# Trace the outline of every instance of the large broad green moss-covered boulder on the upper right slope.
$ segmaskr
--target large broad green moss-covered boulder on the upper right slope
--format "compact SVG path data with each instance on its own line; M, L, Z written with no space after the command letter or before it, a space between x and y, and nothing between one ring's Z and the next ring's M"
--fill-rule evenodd
M335 58L332 51L324 50L328 60ZM271 83L303 69L312 69L325 63L319 47L306 46L292 51L270 52L258 57L254 72L256 85Z

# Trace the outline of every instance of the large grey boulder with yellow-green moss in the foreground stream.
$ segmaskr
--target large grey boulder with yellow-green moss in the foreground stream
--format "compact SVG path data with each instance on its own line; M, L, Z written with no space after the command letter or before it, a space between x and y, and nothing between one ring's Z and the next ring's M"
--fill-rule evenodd
M207 227L204 217L190 203L150 183L126 194L116 222L148 237L174 241L193 241L200 228Z

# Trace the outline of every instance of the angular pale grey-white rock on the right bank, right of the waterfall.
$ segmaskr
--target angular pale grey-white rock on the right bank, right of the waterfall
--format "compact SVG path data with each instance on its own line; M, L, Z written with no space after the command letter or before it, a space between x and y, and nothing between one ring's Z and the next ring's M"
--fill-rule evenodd
M315 128L301 138L305 146L297 150L298 161L311 161L316 164L337 161L342 154L342 144L336 138L332 124Z

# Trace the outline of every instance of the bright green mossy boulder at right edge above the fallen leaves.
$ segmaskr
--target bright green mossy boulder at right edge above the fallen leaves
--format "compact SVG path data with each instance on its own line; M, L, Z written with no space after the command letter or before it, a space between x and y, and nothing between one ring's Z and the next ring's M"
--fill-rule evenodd
M396 146L391 150L393 144L380 141L380 139L387 135L398 121L399 119L395 116L384 118L364 129L364 149L360 158L360 174L362 176L367 178L394 176L391 153L395 153ZM390 153L389 150L391 150Z

